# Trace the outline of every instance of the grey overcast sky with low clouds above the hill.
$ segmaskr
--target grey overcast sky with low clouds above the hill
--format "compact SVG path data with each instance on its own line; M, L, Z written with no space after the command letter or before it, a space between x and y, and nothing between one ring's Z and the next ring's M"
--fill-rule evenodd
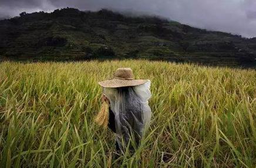
M1 0L0 18L56 8L102 8L164 16L197 28L256 37L256 0Z

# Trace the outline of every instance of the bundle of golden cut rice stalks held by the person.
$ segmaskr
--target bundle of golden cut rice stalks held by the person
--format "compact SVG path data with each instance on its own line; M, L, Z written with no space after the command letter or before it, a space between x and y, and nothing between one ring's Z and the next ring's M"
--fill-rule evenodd
M95 122L103 128L107 128L107 124L109 123L109 104L106 101L102 102L102 106L100 107L100 111L95 118Z

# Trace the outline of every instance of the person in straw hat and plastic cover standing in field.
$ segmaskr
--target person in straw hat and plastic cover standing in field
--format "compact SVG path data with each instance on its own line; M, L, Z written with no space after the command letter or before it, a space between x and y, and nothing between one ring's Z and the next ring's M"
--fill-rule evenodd
M102 105L108 108L105 110L108 115L105 119L98 115L96 120L116 133L116 149L122 153L126 148L134 152L149 127L150 83L150 80L135 80L131 68L117 68L112 79L99 82L103 88Z

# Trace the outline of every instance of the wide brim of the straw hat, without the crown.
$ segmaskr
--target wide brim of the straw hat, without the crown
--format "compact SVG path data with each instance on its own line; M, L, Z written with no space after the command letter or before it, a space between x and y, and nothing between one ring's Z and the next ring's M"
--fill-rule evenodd
M147 81L148 80L121 80L113 78L112 80L100 81L99 85L101 85L102 87L117 88L141 85L146 83Z

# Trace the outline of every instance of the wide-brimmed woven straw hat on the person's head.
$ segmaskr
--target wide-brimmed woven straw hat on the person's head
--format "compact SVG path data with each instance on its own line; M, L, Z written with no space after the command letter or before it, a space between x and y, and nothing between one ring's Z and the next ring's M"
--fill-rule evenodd
M131 68L117 68L113 78L110 80L100 81L102 87L128 87L146 83L148 80L134 80L133 70Z

